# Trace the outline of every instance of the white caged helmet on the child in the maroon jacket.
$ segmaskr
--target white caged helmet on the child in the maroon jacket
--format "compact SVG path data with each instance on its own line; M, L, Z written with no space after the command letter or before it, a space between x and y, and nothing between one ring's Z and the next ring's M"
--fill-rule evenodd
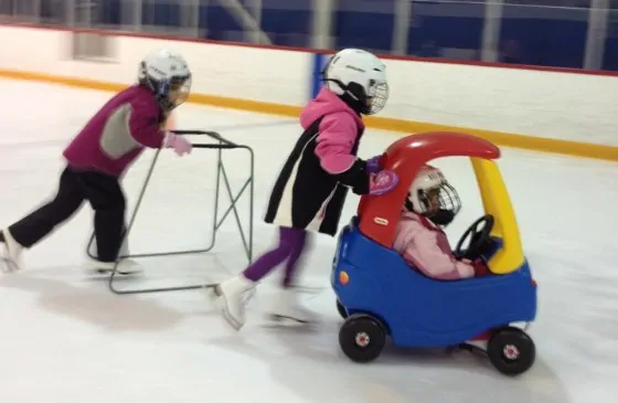
M138 81L150 88L166 110L187 100L191 71L179 53L163 49L149 53L139 64Z

